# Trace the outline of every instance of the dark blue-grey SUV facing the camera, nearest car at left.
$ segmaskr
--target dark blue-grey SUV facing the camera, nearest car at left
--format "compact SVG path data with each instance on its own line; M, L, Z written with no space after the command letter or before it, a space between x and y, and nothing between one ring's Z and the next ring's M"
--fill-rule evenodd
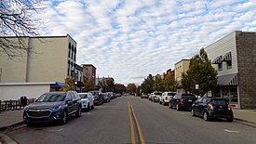
M81 116L80 99L75 91L44 93L24 108L23 120L27 125L52 121L66 124L72 114Z

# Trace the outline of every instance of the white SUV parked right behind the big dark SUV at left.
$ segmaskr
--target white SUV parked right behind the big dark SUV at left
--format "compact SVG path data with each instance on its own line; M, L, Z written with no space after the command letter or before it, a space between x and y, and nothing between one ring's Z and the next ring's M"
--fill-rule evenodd
M94 98L91 93L78 93L81 98L82 110L94 109Z

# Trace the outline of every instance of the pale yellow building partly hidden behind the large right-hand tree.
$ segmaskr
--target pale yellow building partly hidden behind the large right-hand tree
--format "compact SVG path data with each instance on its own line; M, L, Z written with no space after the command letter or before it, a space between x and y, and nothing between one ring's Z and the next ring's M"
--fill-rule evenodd
M190 59L182 59L179 62L175 63L175 81L178 83L177 92L184 93L185 91L182 87L182 73L188 71Z

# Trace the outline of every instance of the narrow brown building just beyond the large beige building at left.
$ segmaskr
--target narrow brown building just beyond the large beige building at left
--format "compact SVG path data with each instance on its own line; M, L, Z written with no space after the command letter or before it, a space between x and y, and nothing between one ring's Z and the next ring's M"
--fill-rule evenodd
M96 83L96 67L92 64L82 64L83 74L86 79L85 91L95 88Z

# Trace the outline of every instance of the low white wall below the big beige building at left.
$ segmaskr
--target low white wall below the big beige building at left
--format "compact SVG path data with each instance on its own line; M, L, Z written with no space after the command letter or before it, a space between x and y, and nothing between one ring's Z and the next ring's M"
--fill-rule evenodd
M50 85L0 85L0 100L18 100L22 96L38 98L49 90Z

